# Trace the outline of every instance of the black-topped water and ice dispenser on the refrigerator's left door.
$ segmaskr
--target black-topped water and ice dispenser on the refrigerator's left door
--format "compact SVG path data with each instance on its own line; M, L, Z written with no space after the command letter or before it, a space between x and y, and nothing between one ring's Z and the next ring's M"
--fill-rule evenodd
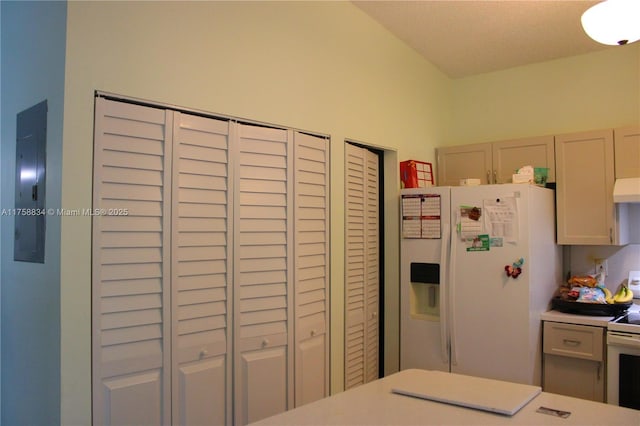
M411 262L409 305L415 319L440 320L440 264Z

